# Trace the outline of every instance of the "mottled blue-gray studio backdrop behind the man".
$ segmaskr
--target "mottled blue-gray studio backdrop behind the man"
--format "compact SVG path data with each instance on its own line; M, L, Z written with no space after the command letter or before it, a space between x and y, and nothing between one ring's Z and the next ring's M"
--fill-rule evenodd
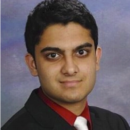
M2 0L2 124L18 111L37 78L24 63L24 28L28 13L41 0ZM130 124L130 0L82 0L99 26L101 70L90 105L119 113Z

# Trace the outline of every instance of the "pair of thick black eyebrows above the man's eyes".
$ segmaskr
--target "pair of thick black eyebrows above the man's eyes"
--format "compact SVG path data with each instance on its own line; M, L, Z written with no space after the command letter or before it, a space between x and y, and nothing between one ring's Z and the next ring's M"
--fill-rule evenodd
M74 50L77 51L77 50L80 50L80 49L82 49L84 47L92 47L92 44L91 43L84 43L82 45L77 46ZM41 50L41 53L46 52L46 51L56 51L58 53L63 53L64 52L64 50L61 50L58 47L45 47L45 48L43 48Z

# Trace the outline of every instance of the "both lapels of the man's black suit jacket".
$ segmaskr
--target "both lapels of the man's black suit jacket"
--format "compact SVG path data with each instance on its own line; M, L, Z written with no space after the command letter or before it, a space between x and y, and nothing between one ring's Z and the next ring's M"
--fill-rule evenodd
M33 116L45 130L74 130L63 118L55 111L42 102L34 90L25 104L27 111ZM90 108L92 120L92 130L108 130L105 121L101 120Z

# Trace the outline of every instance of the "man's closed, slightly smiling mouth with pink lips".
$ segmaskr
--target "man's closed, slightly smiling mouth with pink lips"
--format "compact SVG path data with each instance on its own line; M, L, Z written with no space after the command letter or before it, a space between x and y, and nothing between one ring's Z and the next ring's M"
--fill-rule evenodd
M79 83L81 82L81 80L72 80L72 81L60 81L60 83L64 86L64 87L76 87Z

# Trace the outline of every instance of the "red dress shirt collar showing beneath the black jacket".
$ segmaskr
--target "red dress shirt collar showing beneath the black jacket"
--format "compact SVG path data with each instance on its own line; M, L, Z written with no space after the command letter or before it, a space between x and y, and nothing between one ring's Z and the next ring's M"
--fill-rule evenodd
M51 99L49 99L43 92L42 89L39 88L38 89L38 95L40 96L40 98L49 106L51 107L55 112L57 112L64 120L66 120L71 126L74 125L74 122L77 118L77 115L73 114L72 112L70 112L69 110L67 110L66 108L60 106L59 104L53 102ZM83 112L81 113L80 116L83 116L84 118L87 119L88 121L88 127L89 130L92 130L92 123L91 123L91 118L90 118L90 112L89 112L89 107L88 107L88 103L86 101L86 106L83 110Z

